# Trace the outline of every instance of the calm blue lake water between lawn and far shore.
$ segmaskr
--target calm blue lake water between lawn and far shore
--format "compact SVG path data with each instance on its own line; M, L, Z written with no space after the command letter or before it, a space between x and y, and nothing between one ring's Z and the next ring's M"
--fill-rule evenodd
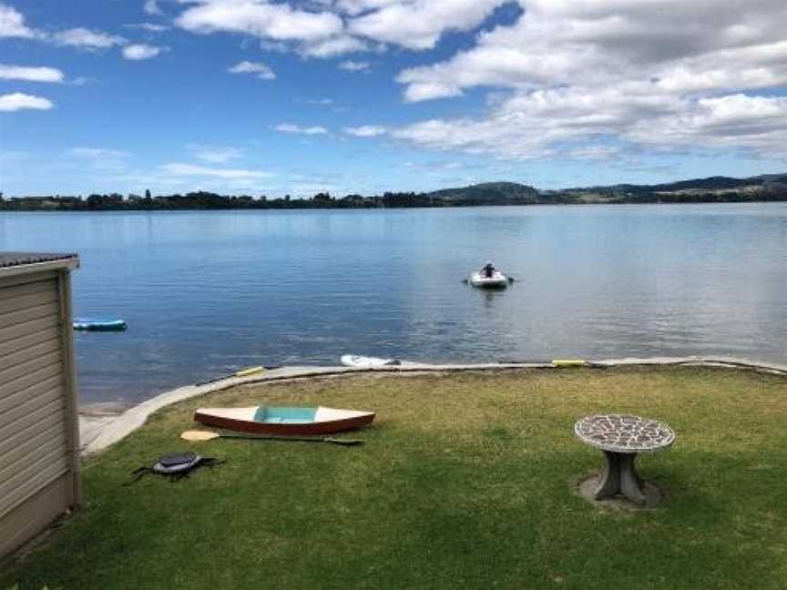
M82 402L258 364L730 355L787 362L787 204L0 214L76 251ZM517 281L462 283L485 259Z

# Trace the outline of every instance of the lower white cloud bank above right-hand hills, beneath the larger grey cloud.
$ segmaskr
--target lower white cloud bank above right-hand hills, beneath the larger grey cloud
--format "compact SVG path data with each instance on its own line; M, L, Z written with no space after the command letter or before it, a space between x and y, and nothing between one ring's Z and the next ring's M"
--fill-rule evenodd
M645 86L537 90L506 99L483 118L430 119L392 135L421 148L512 159L576 157L577 146L589 153L609 137L660 149L746 148L766 155L780 146L783 153L787 97L695 99Z

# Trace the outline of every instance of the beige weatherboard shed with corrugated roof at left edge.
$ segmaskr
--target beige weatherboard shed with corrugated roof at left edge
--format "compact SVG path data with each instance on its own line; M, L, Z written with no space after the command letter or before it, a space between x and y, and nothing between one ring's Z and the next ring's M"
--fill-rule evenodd
M0 252L0 557L80 501L78 264L76 254Z

